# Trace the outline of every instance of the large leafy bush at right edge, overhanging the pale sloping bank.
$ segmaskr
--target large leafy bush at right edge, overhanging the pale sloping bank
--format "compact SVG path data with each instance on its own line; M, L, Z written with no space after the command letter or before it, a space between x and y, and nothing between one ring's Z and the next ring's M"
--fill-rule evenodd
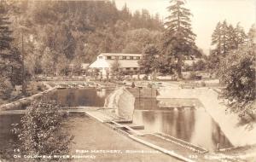
M256 120L255 107L255 54L253 47L241 46L231 51L223 61L219 69L220 81L225 84L222 96L229 101L232 113L252 117Z

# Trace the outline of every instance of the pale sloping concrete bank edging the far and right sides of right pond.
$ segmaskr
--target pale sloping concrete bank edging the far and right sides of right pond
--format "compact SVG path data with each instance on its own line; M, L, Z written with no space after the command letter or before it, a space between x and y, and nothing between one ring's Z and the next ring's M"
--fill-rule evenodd
M201 108L205 108L212 119L218 123L224 135L234 146L246 146L256 144L256 124L252 129L247 129L247 124L239 124L240 119L235 113L226 113L226 106L222 100L218 100L218 93L212 89L161 89L157 98L196 98L201 101ZM245 138L241 138L245 136Z

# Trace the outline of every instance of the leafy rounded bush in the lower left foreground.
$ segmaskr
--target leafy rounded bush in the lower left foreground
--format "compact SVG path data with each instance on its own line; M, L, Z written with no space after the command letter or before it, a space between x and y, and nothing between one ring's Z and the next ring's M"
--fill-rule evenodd
M26 108L21 126L13 132L20 141L20 153L24 154L65 154L73 136L61 129L64 115L55 101L34 101Z

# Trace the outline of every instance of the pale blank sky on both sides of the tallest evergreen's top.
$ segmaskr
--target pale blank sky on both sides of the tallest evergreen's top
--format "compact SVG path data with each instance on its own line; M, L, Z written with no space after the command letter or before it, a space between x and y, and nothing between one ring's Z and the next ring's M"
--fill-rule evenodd
M159 13L165 19L170 0L115 0L118 9L127 5L134 12L148 9L150 14ZM208 54L212 32L218 21L227 20L236 26L240 22L245 31L256 21L256 0L186 0L185 7L193 14L192 30L197 35L195 43Z

